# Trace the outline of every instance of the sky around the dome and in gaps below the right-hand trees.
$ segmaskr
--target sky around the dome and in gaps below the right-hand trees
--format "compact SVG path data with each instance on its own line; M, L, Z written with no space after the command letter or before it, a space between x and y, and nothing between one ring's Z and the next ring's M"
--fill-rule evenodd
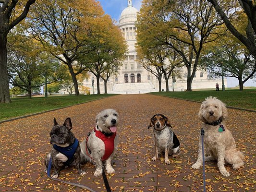
M119 21L122 10L128 5L128 0L98 0L104 10L104 12L111 16L115 21ZM133 6L139 11L142 0L132 0ZM219 84L222 84L221 82ZM237 86L238 80L234 77L227 77L227 87ZM255 80L248 80L244 86L256 86ZM215 85L213 86L215 87Z

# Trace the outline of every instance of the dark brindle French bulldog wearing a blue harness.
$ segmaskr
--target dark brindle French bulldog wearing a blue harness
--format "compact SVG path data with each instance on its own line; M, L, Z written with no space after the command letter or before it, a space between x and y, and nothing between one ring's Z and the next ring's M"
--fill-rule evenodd
M54 126L50 132L51 151L45 158L45 166L48 168L51 159L54 169L52 178L57 178L60 170L69 165L75 165L80 175L85 175L85 171L80 168L80 144L74 137L71 119L67 118L63 125L59 125L54 118ZM47 172L47 170L46 170Z

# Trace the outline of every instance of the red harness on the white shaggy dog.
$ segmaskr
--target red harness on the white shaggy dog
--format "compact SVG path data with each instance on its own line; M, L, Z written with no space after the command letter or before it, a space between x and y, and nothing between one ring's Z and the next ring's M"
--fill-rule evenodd
M102 160L102 161L105 161L105 160L107 160L107 159L110 157L110 155L111 155L111 154L113 153L113 151L114 151L114 147L115 147L115 146L114 146L114 140L115 140L115 137L116 137L116 132L113 132L113 134L110 135L110 136L106 136L103 132L100 132L100 131L96 130L96 128L94 128L93 131L95 132L96 137L98 137L99 139L101 139L101 141L104 142L104 145L105 145L105 153L104 153L104 155L102 156L101 160ZM88 136L88 137L89 137L89 136ZM90 156L90 151L89 151L89 153L88 153L88 150L89 150L89 148L88 148L88 146L87 146L88 137L86 138L86 153L87 153L87 155L88 155L90 158L92 158L92 157Z

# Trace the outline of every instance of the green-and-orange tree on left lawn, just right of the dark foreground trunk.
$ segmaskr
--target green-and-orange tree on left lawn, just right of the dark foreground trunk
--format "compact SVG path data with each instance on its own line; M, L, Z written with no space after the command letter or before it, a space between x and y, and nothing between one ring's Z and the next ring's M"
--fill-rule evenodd
M12 39L14 36L12 36ZM15 35L8 48L8 73L13 86L17 86L32 97L32 89L45 84L45 72L48 83L59 80L59 62L50 54L42 51L42 46L30 36Z

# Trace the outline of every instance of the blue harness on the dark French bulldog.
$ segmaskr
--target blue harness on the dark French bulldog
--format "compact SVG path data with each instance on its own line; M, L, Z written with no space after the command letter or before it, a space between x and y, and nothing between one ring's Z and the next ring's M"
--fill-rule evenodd
M57 144L53 145L53 148L68 157L68 160L64 162L64 165L69 165L73 162L73 156L78 148L78 140L75 138L74 143L67 147L60 147ZM80 155L80 154L79 154Z

